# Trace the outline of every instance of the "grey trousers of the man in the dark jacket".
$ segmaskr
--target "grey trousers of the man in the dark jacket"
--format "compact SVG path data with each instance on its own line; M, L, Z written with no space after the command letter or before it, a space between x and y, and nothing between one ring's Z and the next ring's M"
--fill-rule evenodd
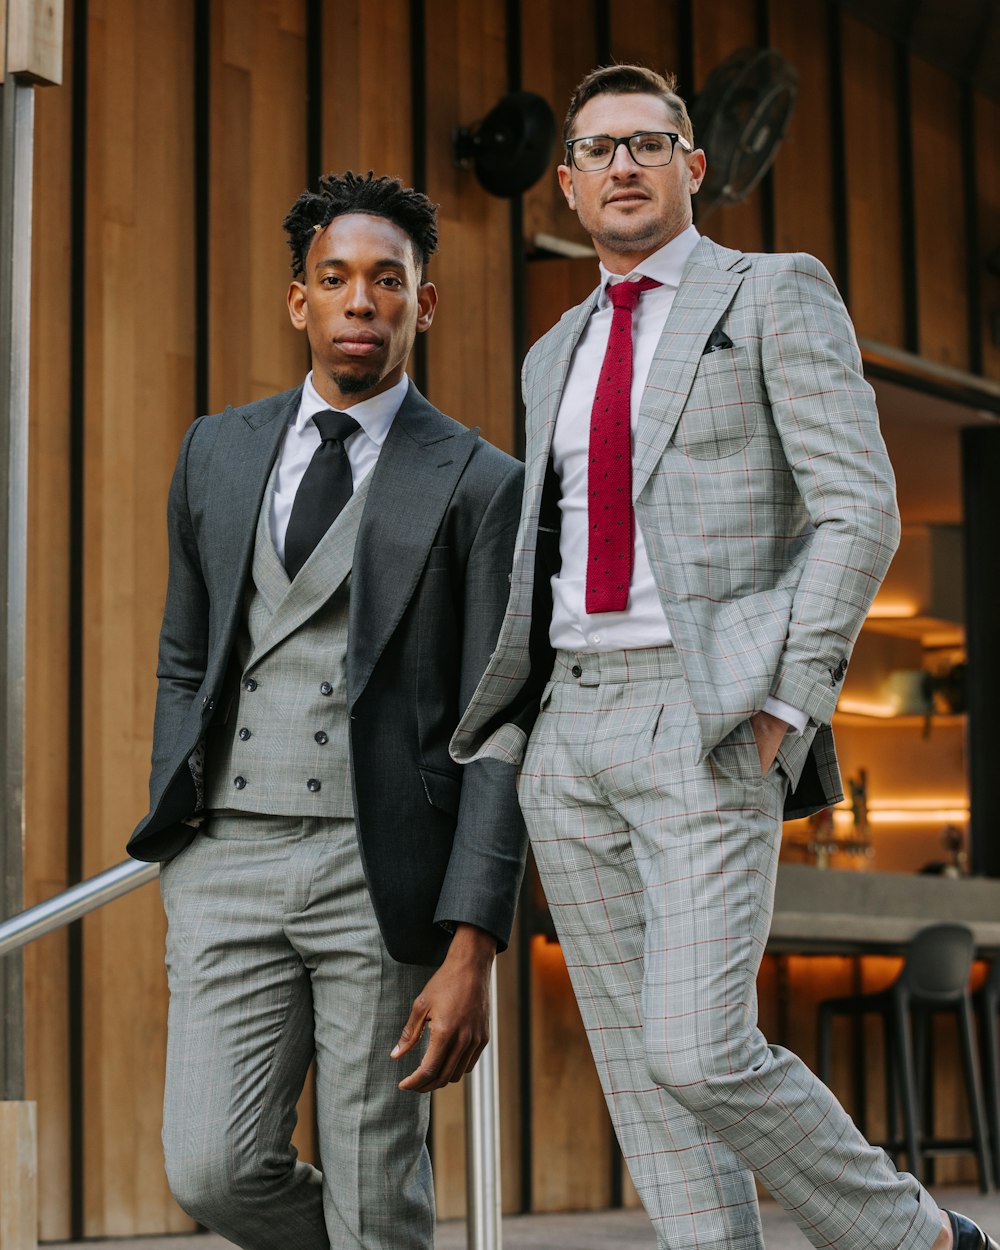
M212 815L160 881L178 1201L245 1250L431 1250L430 1099L389 1058L431 970L386 952L354 821ZM322 1172L290 1145L314 1051Z

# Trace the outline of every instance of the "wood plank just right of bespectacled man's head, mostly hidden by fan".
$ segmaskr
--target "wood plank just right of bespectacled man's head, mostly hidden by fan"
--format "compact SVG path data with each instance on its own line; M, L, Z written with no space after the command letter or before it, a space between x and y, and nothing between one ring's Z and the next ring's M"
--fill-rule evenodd
M712 5L695 5L694 44L695 82L700 92L711 71L736 49L758 46L756 0L718 0ZM699 141L699 135L695 135L695 142ZM711 152L708 156L711 162ZM760 251L764 246L760 186L742 204L712 209L708 215L696 218L696 224L726 248Z

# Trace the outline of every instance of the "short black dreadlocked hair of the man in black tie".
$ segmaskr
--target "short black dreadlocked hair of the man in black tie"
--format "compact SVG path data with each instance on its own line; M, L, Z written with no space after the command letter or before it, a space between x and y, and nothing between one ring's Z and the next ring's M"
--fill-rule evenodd
M398 178L326 174L319 191L302 191L281 222L291 248L291 271L305 274L305 258L316 234L345 212L370 212L385 218L410 236L422 281L428 261L438 250L438 205ZM319 230L318 230L319 228Z

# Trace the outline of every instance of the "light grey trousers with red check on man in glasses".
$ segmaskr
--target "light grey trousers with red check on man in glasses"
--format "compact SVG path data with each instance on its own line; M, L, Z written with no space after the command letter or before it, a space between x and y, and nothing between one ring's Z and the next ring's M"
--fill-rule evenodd
M762 1246L756 1172L815 1246L928 1248L930 1195L758 1029L785 778L749 721L700 756L672 648L559 652L519 779L658 1245Z

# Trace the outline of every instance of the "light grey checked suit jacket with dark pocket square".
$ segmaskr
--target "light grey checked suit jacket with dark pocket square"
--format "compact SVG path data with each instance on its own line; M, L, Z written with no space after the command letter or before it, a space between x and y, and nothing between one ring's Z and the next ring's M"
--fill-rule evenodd
M522 756L522 705L545 664L530 631L546 610L536 562L558 541L542 504L552 430L596 296L570 309L525 360L528 456L511 595L451 742L459 760ZM716 328L732 346L706 352ZM774 695L810 719L780 752L791 781L786 815L840 799L830 719L899 542L899 512L854 329L818 260L699 241L638 415L632 498L702 751Z

